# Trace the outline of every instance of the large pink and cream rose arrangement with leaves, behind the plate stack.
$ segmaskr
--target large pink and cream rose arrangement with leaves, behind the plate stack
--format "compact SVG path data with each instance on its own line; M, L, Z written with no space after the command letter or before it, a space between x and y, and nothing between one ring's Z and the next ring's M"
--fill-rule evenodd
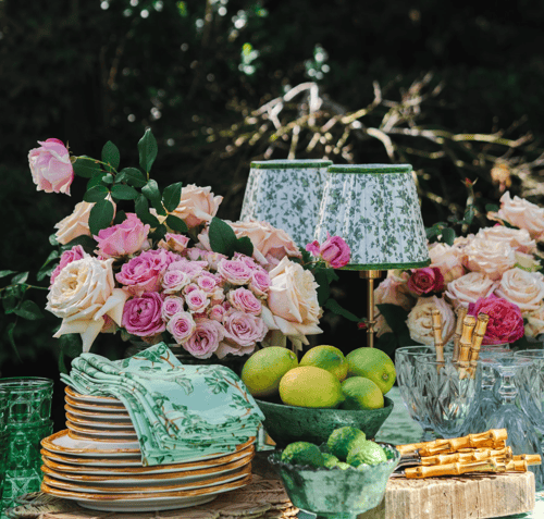
M267 222L217 218L222 197L210 187L176 183L161 193L150 177L158 151L150 131L138 143L139 168L120 169L112 143L100 160L72 156L59 139L39 144L28 155L38 190L70 195L75 176L87 178L83 201L55 224L57 249L38 274L50 276L46 309L62 320L54 337L78 334L89 351L99 334L120 331L206 359L286 338L301 347L321 333L327 293L320 284L349 260L341 237L309 244L310 258ZM26 277L15 275L3 295L20 296L8 312L32 319L39 309L25 299Z

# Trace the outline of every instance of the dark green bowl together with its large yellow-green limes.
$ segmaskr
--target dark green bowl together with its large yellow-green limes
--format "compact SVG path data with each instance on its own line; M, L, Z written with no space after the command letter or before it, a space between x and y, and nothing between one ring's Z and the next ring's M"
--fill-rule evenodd
M395 382L395 367L376 348L344 356L334 346L314 346L299 362L293 351L269 347L246 361L242 380L279 447L297 441L321 444L343 425L373 438L393 411L384 394Z

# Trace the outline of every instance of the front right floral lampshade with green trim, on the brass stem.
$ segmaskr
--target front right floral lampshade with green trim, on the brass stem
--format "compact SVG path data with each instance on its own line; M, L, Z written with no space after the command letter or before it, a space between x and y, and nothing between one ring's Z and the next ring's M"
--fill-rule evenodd
M346 270L430 264L410 164L331 165L316 238L342 236L351 249Z

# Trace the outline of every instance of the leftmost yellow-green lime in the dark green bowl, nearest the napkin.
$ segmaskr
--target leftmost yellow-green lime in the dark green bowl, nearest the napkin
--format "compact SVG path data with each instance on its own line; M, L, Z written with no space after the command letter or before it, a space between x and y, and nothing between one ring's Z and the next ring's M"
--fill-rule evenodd
M277 394L282 376L297 366L297 356L290 349L270 346L246 360L240 378L251 395L273 396Z

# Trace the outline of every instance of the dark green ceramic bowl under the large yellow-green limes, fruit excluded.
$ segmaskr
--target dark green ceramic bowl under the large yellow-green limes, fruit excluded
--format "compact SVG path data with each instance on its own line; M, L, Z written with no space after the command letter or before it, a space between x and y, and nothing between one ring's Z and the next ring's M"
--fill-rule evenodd
M346 425L360 429L372 440L393 411L393 400L384 397L382 409L312 409L257 400L264 415L264 429L279 447L292 442L311 442L321 445L331 433Z

